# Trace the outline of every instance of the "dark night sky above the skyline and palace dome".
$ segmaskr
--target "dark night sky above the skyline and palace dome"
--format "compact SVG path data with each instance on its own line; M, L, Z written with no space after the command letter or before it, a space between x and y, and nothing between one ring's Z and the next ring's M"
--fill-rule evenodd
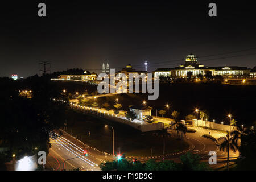
M47 17L38 17L38 3ZM208 16L210 2L217 17ZM256 65L253 1L13 1L1 2L0 76L35 75L39 61L51 71L100 72L130 63L149 71L175 67L194 53L209 66ZM230 53L233 52L233 53ZM225 59L223 59L225 58Z

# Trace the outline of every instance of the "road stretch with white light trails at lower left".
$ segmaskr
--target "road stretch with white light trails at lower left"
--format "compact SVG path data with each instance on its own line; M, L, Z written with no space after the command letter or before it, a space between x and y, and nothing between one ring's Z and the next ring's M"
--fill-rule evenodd
M51 149L47 156L47 164L55 171L73 168L79 168L82 171L98 171L100 170L99 164L104 162L104 154L88 148L67 134L56 139L51 138L50 143ZM84 156L84 151L88 152L88 156Z

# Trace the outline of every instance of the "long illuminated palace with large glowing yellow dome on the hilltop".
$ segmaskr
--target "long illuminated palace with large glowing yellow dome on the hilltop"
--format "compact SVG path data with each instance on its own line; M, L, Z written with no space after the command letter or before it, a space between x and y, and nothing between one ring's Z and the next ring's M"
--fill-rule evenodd
M179 67L175 68L158 68L153 73L158 76L164 77L177 77L177 78L186 78L188 72L192 72L192 76L196 77L197 75L205 75L206 72L212 72L212 75L222 75L228 76L230 78L243 77L245 75L250 76L251 78L256 78L255 68L250 69L247 67L205 67L203 64L197 62L197 57L192 53L189 54L185 63L181 64Z

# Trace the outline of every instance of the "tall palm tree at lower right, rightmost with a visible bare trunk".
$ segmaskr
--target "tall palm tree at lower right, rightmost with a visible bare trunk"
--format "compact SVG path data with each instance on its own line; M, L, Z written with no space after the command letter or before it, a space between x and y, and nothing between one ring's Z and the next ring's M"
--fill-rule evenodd
M236 152L238 149L237 142L234 138L234 135L230 135L228 131L226 131L225 137L218 138L219 141L222 141L220 144L220 150L227 151L228 152L228 158L227 158L227 169L229 171L229 150L233 150L233 152Z

